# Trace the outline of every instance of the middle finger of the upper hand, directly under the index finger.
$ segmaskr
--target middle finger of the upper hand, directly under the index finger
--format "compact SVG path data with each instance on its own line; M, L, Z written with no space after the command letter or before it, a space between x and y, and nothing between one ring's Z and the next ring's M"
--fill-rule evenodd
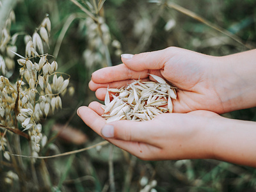
M147 75L148 76L148 75ZM140 77L138 77L139 79ZM149 81L148 78L140 78L141 81ZM95 92L98 88L102 88L102 87L109 87L109 88L121 88L122 86L126 86L127 84L131 84L133 83L134 80L133 79L125 79L123 81L114 81L114 82L109 82L109 83L95 83L94 81L90 81L89 82L89 88L90 90L92 90L93 92Z

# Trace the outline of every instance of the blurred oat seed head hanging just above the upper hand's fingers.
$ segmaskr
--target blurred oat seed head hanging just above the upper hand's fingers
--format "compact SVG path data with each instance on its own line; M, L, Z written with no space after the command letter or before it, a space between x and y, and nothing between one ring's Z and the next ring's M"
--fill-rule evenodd
M70 0L76 4L85 14L86 19L81 20L81 28L86 28L86 39L88 40L88 48L84 51L84 60L88 68L100 65L107 67L112 65L109 53L109 44L111 43L111 34L108 25L104 19L103 5L105 1L93 0L82 1ZM93 68L94 70L94 68Z

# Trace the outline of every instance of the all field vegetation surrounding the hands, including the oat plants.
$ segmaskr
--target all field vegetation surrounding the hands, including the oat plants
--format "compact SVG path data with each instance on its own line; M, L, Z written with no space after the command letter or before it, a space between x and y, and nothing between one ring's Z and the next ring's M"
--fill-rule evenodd
M48 113L42 111L40 121L35 123L30 116L26 116L28 124L24 123L25 119L15 120L18 115L15 105L7 111L10 117L4 117L1 110L8 105L4 106L4 100L1 100L0 191L256 191L254 168L210 159L142 161L102 140L76 115L79 106L88 106L97 100L88 88L92 72L120 64L122 53L136 54L177 46L223 56L254 49L256 1L0 2L0 75L11 84L22 79L24 75L20 68L29 68L28 63L19 65L20 56L40 63L48 53L50 64L58 62L58 69L54 68L52 72L38 68L42 77L47 79L49 76L52 92L47 84L45 87L40 82L41 77L33 84L24 76L29 90L24 88L24 95L25 92L33 94L30 90L38 88L36 93L49 97L44 100L38 95L33 100L30 99L33 95L28 96L34 109L36 103L51 105ZM51 20L51 31L43 22L45 18ZM44 33L40 33L41 28L46 29L49 42ZM33 49L26 48L29 41L24 41L35 31L43 42L44 52L39 45L36 48L40 56L36 56ZM8 51L10 49L12 52ZM32 50L30 55L29 50ZM5 72L3 60L9 63ZM0 81L6 83L2 76ZM68 86L61 84L56 87L54 78L58 77L60 81L61 77L63 81L68 79ZM17 95L13 93L14 97L11 92L12 89L8 97L16 98ZM20 96L20 100L23 97ZM61 106L59 102L53 108L52 98L56 100L56 97L61 98ZM12 103L15 100L10 100L10 105ZM256 121L256 109L234 111L223 116ZM13 122L10 123L11 118ZM31 136L39 138L32 139Z

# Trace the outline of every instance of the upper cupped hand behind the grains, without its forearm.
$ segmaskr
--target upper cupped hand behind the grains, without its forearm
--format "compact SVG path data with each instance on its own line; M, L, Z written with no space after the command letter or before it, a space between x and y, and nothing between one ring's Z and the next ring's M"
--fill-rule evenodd
M127 57L128 56L128 57ZM132 79L153 80L148 74L163 77L176 86L177 100L173 100L173 112L187 113L195 110L209 110L225 113L221 95L216 92L216 79L220 78L216 61L218 57L177 47L161 51L145 52L122 57L123 64L106 67L92 74L90 89L104 100L106 88L125 86ZM218 63L218 62L217 62ZM218 82L221 82L218 79Z

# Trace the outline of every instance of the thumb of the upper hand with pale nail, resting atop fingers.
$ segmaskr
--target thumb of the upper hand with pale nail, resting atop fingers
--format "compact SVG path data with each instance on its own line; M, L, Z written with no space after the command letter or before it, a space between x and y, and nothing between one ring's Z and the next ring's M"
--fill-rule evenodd
M143 52L140 54L122 54L122 62L132 70L158 70L164 68L164 64L170 58L170 47L152 52Z

